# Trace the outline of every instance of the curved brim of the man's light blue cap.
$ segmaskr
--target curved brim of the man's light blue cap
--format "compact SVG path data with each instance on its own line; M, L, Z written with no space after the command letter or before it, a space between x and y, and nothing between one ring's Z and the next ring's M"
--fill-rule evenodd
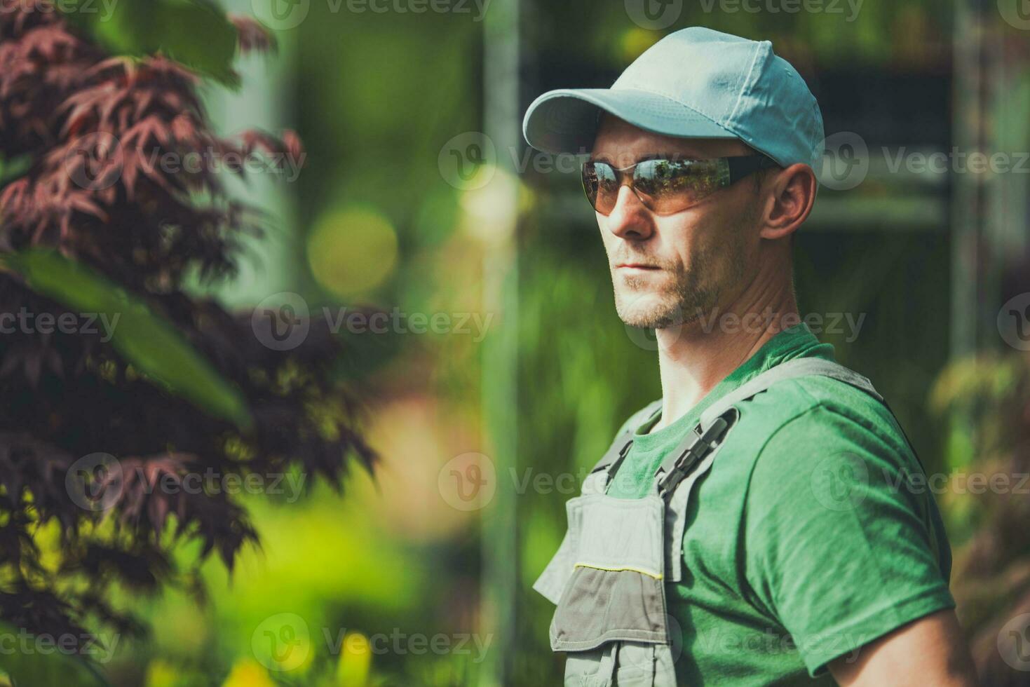
M634 89L559 89L533 101L522 119L526 142L545 152L589 152L604 110L664 136L737 138L712 119L672 98Z

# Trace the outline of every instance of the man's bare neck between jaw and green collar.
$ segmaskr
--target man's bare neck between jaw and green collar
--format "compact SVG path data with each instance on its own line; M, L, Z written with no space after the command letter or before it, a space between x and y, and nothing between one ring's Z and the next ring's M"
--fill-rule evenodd
M662 404L661 418L652 432L689 412L716 384L779 334L785 315L797 317L789 281L774 285L765 280L766 276L758 275L725 309L655 332Z

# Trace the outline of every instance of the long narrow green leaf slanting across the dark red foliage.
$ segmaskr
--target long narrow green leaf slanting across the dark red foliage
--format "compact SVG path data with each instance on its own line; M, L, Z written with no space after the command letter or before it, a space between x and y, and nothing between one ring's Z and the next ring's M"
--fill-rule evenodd
M253 420L239 389L198 353L169 321L146 303L89 267L49 248L0 256L37 294L69 310L100 313L114 323L111 345L141 374L171 393L243 430Z

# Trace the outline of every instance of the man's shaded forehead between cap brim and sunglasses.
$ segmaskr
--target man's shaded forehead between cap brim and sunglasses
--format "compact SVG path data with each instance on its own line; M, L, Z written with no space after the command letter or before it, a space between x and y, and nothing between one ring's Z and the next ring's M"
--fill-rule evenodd
M722 158L752 152L736 138L679 138L646 131L605 113L597 126L591 158L631 164L645 157Z

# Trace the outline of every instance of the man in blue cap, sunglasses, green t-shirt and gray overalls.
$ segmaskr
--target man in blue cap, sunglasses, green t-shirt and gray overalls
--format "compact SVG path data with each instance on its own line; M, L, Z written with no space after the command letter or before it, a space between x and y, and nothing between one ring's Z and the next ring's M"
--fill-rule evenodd
M922 468L800 323L791 240L823 124L793 67L685 29L610 90L544 94L523 132L592 151L616 310L655 330L662 388L536 585L565 684L973 684L940 516L906 488Z

